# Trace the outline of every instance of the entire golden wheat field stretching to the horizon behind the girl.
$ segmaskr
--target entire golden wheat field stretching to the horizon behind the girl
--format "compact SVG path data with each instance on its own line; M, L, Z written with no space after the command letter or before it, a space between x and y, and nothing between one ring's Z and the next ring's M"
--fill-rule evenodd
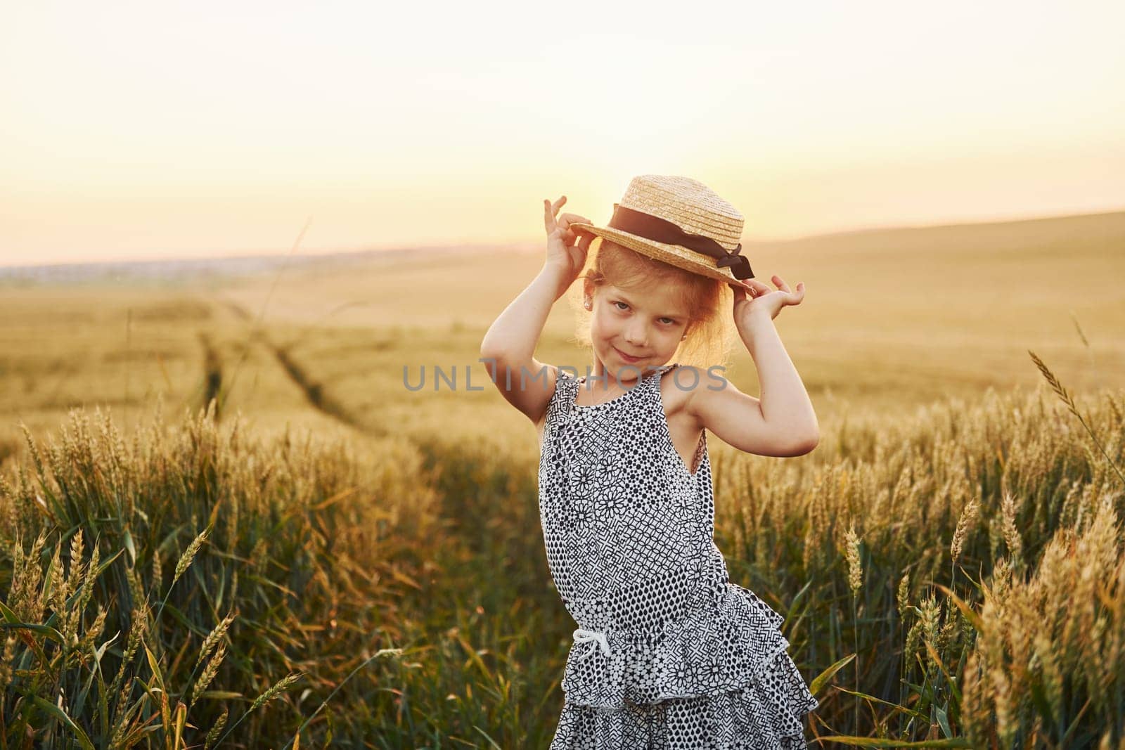
M716 541L812 742L1125 747L1125 213L744 252L822 437L711 441ZM573 623L477 361L540 264L0 284L0 747L544 747Z

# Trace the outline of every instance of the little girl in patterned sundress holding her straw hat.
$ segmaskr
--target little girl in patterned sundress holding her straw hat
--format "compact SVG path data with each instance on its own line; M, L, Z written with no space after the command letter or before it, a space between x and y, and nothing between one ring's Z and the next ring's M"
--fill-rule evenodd
M762 455L817 445L773 325L803 284L754 280L742 215L696 180L634 178L605 227L556 218L565 202L543 201L543 268L480 345L493 382L540 434L547 560L578 624L551 750L804 748L803 715L819 703L785 651L783 617L728 578L706 451L706 431ZM595 237L580 307L593 365L578 377L533 353ZM727 361L729 323L760 400L723 367L700 370Z

